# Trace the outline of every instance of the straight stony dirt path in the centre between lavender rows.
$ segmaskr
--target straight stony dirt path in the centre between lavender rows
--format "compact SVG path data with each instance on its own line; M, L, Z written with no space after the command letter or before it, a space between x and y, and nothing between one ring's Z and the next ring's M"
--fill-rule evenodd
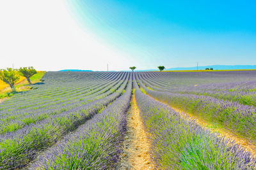
M131 107L127 111L127 134L119 169L154 169L149 148L150 143L143 129L140 110L136 105L135 96L132 95Z

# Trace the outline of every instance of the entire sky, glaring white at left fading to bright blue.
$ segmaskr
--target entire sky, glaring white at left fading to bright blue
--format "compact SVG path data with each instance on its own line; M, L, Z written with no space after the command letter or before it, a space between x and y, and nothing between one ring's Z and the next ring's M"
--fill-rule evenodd
M256 2L0 0L0 69L256 64Z

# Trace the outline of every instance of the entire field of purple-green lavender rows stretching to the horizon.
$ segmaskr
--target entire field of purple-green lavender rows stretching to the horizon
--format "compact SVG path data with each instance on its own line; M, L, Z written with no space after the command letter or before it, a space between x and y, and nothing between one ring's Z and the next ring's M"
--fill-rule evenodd
M136 169L121 163L132 96L154 169L256 169L256 71L47 72L32 87L0 103L0 169Z

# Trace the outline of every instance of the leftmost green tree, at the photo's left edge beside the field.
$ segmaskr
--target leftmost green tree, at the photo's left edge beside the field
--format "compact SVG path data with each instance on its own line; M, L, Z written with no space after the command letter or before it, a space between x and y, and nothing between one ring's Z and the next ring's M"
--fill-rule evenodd
M19 79L20 77L19 77L19 74L17 74L16 69L7 68L7 69L2 69L0 71L0 80L10 85L13 92L16 92L14 85L15 83L17 83L17 81L19 81Z

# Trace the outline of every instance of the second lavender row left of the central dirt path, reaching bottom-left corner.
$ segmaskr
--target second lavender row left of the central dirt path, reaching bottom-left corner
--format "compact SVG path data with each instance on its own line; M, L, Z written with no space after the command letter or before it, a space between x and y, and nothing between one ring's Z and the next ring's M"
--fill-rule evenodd
M90 119L120 96L128 79L109 96L101 97L92 103L84 104L59 115L52 115L35 124L28 125L16 132L9 132L0 141L0 169L23 167L35 156L61 139L67 132L74 131L79 125Z

